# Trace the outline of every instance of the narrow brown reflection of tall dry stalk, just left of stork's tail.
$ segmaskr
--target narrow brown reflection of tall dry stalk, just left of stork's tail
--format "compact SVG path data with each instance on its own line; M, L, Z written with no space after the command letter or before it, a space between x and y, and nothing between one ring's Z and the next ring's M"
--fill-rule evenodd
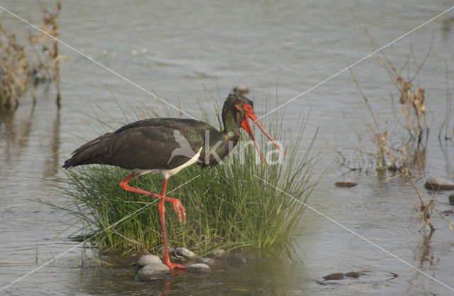
M55 177L61 166L58 158L60 153L60 108L57 108L49 141L50 149L48 149L49 154L44 160L43 177Z

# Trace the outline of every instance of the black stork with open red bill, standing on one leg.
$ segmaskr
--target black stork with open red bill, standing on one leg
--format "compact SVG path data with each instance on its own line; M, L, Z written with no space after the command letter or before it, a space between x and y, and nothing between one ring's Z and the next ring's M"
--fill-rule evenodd
M213 167L220 162L238 143L240 128L244 128L252 138L261 160L265 160L255 142L248 119L265 133L275 147L277 143L258 121L253 111L253 102L236 92L228 95L222 109L223 131L194 119L144 119L106 133L80 146L65 161L63 168L77 165L115 165L132 170L131 175L120 182L127 191L145 194L159 199L158 211L161 219L164 244L164 263L170 270L184 268L170 262L165 233L164 202L171 202L179 221L186 222L186 211L178 199L167 197L165 190L169 177L183 168L199 163L203 167ZM160 194L131 187L128 182L138 175L160 172L164 178Z

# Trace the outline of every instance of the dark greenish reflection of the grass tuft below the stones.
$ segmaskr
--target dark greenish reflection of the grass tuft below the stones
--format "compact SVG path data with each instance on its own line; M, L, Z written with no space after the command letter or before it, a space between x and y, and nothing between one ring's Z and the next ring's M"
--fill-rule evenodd
M70 275L70 294L75 295L301 295L314 280L303 266L282 257L250 259L231 265L221 262L211 266L210 273L182 271L166 280L134 280L137 270L130 264L121 267L81 268L79 279ZM106 258L109 262L110 259ZM284 276L283 276L284 275ZM318 286L318 285L317 285Z

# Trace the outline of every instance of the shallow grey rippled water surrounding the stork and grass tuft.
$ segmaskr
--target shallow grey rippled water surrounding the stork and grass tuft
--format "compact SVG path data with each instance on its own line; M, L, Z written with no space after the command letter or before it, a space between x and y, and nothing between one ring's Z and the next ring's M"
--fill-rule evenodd
M52 1L43 1L44 5ZM4 1L6 9L39 23L34 1ZM269 95L277 103L296 97L347 65L371 53L366 26L380 46L389 43L453 5L450 1L213 1L185 2L67 1L62 4L60 38L94 60L118 71L171 104L201 117L197 101L213 110L215 97L225 97L237 84L247 85L255 97ZM352 12L362 25L355 23ZM1 21L21 38L30 30L6 14ZM431 124L426 168L428 175L453 180L453 144L440 146L438 129L445 114L445 61L454 72L453 11L387 48L388 57L402 66L410 43L416 58L426 55L433 34L431 55L421 72ZM106 55L103 55L103 50ZM132 55L136 50L137 55ZM0 117L0 286L21 278L40 264L72 246L65 239L69 217L35 199L63 204L55 188L60 166L84 140L111 131L118 121L136 118L141 104L162 112L162 105L142 90L99 65L61 46L69 60L61 62L62 109L54 104L53 88L40 87L33 109L29 96L21 99L16 114ZM414 69L414 67L412 67ZM389 78L374 57L353 67L353 72L384 121L394 92ZM452 78L450 79L452 84ZM272 102L274 102L272 100ZM333 161L326 141L336 148L357 142L370 117L348 71L295 99L277 111L284 116L287 137L301 109L309 114L306 140L320 128L316 150L326 155L316 175ZM104 113L105 110L109 116ZM138 111L140 112L140 111ZM143 111L143 114L146 114ZM138 114L140 116L141 114ZM101 126L96 120L108 122ZM213 114L214 116L214 114ZM392 123L390 123L392 126ZM450 122L450 129L453 122ZM324 139L324 141L323 141ZM442 149L443 148L443 149ZM443 150L445 154L443 154ZM350 157L358 156L346 150ZM418 200L401 179L347 172L333 164L323 175L308 204L361 236L414 265L424 273L454 286L454 240L448 225L434 216L431 239L420 234L413 212ZM339 189L334 182L349 180L358 187ZM427 194L428 195L428 194ZM449 193L436 195L446 203ZM441 211L452 209L437 204ZM448 216L454 219L453 214ZM79 265L79 248L50 266L23 278L6 290L11 295L450 295L448 288L389 256L320 214L307 209L301 236L295 240L297 261L258 259L240 268L221 267L207 275L177 275L168 284L138 283L132 268L94 268ZM38 262L38 263L37 263ZM323 282L330 273L362 271L358 279ZM392 278L390 273L399 275ZM166 286L165 286L166 285ZM164 293L165 294L165 293Z

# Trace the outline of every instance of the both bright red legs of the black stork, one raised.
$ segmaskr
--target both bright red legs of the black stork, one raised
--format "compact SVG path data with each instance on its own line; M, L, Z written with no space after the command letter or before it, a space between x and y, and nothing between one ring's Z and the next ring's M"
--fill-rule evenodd
M166 197L165 196L165 191L167 189L167 180L168 180L168 178L164 179L164 181L162 182L161 194L155 194L153 192L148 192L148 191L145 191L145 190L141 190L139 188L135 188L135 187L129 186L128 182L131 181L133 179L133 177L136 177L137 175L138 175L138 172L133 172L131 175L129 175L128 177L126 177L124 180L122 180L120 182L120 186L121 186L121 188L123 188L126 191L136 192L136 193L140 193L140 194L145 194L145 195L148 195L150 197L156 197L157 199L159 199L159 204L157 205L157 209L159 211L159 216L160 216L160 219L161 219L162 241L164 241L164 263L172 271L175 268L184 269L185 267L183 265L170 262L169 250L167 249L167 235L166 235L166 232L165 232L165 206L164 206L164 202L165 201L172 202L173 208L175 209L175 212L177 212L177 214L178 214L179 221L182 221L182 218L183 218L184 223L186 223L186 210L184 209L182 203L179 202L178 199L170 198L170 197Z

